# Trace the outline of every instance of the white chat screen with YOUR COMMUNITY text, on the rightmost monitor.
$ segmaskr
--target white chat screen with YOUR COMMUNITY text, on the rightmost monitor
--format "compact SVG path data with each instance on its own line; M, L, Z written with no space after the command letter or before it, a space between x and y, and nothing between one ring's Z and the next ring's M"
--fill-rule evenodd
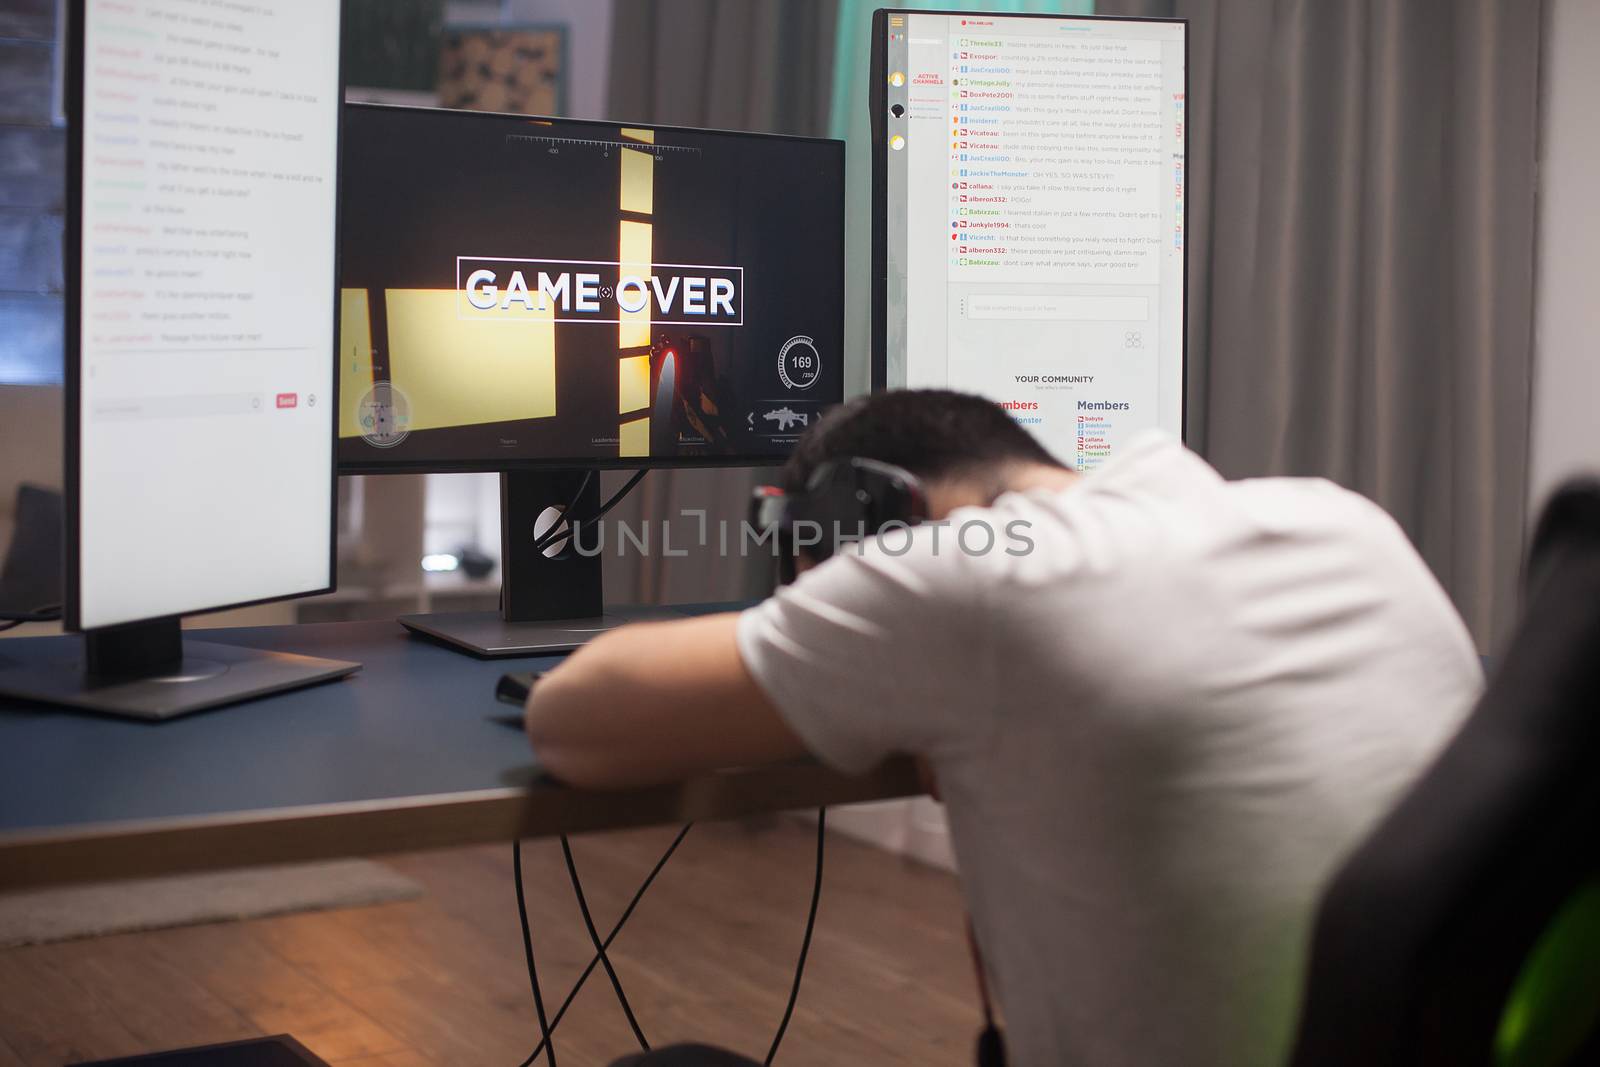
M886 14L891 387L990 397L1080 470L1182 430L1184 30Z

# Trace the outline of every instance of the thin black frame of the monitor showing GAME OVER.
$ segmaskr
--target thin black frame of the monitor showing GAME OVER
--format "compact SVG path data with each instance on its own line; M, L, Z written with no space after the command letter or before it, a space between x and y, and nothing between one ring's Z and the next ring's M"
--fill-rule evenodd
M755 130L707 130L704 126L680 126L664 122L634 122L634 120L616 120L616 118L566 118L558 115L522 115L517 112L490 112L490 110L454 110L448 107L416 107L408 104L373 104L347 101L344 104L346 112L352 110L370 110L370 112L408 112L408 114L427 114L427 115L450 115L459 118L483 118L483 120L517 120L530 122L539 125L552 126L611 126L611 128L629 128L629 130L661 130L667 133L693 133L693 134L712 134L725 138L749 138L760 141L797 141L805 144L830 146L838 152L838 170L840 170L840 186L838 186L838 246L848 254L846 234L848 224L845 219L845 203L848 189L848 158L845 150L845 141L838 138L816 138L806 134L794 133L768 133ZM341 280L342 282L342 280ZM838 315L840 315L840 338L845 339L845 350L840 358L848 365L848 338L845 336L845 262L843 258L838 264ZM842 368L843 370L843 368ZM838 398L829 402L829 406L837 406L848 400L848 376L840 376ZM371 461L365 459L341 459L339 445L342 437L339 437L338 419L334 421L334 464L339 474L346 475L386 475L386 474L502 474L512 470L674 470L674 469L698 469L698 470L715 470L715 469L750 469L750 467L776 467L789 459L789 453L774 456L757 456L757 454L739 454L739 456L557 456L550 459L534 459L522 456L485 456L474 459L384 459L382 456L373 456ZM358 438L355 438L358 440ZM376 451L376 450L374 450Z

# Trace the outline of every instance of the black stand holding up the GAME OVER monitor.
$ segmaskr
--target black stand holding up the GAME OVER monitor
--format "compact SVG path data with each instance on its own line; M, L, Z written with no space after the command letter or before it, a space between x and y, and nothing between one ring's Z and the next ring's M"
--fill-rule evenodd
M474 656L570 653L626 622L682 619L672 608L605 608L600 585L603 542L597 523L571 523L565 539L536 550L547 509L573 515L600 510L600 478L582 470L501 474L501 609L400 616L400 625Z

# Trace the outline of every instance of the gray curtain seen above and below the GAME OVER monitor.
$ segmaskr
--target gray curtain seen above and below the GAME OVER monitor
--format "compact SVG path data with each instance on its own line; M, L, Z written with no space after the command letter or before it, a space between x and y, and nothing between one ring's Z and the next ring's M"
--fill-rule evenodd
M837 0L618 0L608 117L619 122L824 136ZM606 547L606 600L685 603L755 595L771 560L723 557L717 523L746 515L770 470L654 470L613 515L635 530L672 520L674 550L618 557ZM621 478L608 475L603 490ZM704 512L709 544L699 545ZM608 528L611 536L614 526Z

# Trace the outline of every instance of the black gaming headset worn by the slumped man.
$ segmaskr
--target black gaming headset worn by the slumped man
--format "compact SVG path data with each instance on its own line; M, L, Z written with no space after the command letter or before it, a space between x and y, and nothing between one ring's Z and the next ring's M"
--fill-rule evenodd
M917 475L877 459L830 459L798 493L760 485L750 496L750 526L774 537L778 581L795 579L795 557L813 563L834 555L843 541L877 534L890 523L910 526L928 518L928 494Z

